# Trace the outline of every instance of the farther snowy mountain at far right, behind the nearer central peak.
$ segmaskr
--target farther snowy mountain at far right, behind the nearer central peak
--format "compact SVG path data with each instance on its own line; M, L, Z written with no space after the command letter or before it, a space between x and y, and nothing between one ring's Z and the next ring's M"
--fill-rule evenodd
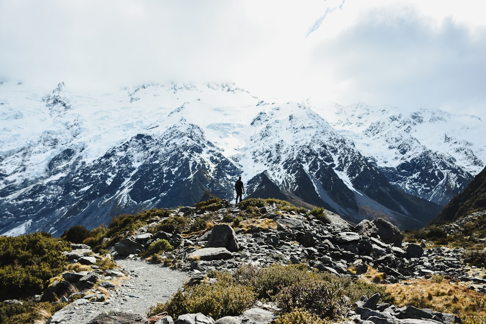
M351 138L390 183L438 205L484 168L486 134L477 116L423 108L402 115L364 103L329 110L336 131Z

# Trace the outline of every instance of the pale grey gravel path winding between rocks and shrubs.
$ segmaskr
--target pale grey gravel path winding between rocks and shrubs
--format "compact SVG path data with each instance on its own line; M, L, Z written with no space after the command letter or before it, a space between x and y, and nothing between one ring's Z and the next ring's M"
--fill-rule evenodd
M123 311L146 317L150 306L165 302L189 279L186 273L141 260L117 260L130 273L104 303L87 303L72 307L59 324L86 324L98 314Z

